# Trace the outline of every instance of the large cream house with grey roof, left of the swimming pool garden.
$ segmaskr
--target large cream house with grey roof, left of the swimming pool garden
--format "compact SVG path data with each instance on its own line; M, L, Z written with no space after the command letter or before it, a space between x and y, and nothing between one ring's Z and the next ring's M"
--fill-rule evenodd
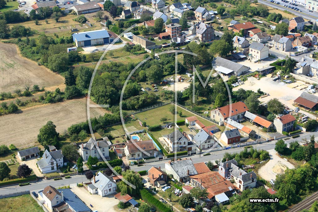
M84 161L88 160L89 156L97 157L99 160L103 160L102 156L109 159L109 144L107 137L102 139L90 138L86 144L79 145L79 154Z

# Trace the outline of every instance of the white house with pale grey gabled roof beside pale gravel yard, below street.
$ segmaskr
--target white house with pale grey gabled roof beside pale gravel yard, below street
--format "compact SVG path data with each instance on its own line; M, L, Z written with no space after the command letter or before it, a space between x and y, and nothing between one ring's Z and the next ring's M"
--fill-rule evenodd
M91 194L98 194L100 196L107 196L111 194L116 194L117 184L109 176L98 172L96 176L94 175L91 183L87 185L88 191Z

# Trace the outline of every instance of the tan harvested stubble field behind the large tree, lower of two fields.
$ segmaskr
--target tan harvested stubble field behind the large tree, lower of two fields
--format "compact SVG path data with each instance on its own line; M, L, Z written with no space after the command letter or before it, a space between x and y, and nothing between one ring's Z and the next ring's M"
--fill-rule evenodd
M38 105L22 113L0 116L0 145L14 144L25 148L37 145L39 129L51 120L59 133L72 124L87 120L86 98L72 99L55 104ZM91 108L91 117L104 115L103 108Z

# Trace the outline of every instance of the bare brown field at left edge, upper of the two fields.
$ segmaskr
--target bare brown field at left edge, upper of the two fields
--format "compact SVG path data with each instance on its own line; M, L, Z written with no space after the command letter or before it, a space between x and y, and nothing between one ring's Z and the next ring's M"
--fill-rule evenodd
M52 87L64 83L59 74L21 57L15 44L0 42L0 58L0 92L13 92L17 88L23 91L25 85Z

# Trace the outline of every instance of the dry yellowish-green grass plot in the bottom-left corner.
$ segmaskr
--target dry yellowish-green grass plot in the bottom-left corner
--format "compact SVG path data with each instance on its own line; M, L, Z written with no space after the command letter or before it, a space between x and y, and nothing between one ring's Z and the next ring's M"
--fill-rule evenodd
M6 212L44 212L31 195L0 199L0 208Z

